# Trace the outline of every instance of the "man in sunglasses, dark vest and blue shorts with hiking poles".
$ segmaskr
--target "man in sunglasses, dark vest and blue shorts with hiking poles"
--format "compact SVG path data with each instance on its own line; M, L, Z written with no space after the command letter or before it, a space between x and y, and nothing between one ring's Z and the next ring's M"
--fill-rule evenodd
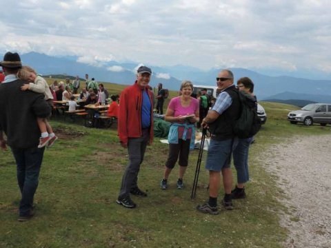
M217 86L221 93L217 100L203 118L201 126L209 126L211 138L205 168L209 170L209 200L198 205L197 210L204 214L219 214L217 209L217 196L219 193L220 172L223 176L225 196L222 204L225 209L233 209L231 200L232 172L230 161L232 147L237 143L232 125L240 114L239 92L233 84L233 74L230 70L222 70L217 77Z

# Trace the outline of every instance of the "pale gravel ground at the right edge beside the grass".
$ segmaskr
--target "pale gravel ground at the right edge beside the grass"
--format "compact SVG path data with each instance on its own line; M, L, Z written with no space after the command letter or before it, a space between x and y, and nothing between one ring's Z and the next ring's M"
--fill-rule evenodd
M281 225L284 247L331 247L331 136L297 137L265 152L265 167L277 175L289 212Z

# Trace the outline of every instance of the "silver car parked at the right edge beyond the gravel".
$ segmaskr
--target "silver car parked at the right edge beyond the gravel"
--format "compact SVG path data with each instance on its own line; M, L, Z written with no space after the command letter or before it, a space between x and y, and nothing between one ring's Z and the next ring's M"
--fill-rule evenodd
M301 108L288 113L288 121L292 124L303 123L304 125L312 125L320 123L325 126L331 124L331 103L310 103Z

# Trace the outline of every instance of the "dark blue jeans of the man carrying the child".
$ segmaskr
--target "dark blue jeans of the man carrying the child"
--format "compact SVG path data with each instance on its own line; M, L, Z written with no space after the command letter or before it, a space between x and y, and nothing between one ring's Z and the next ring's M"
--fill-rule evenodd
M34 193L39 183L39 172L45 147L28 149L12 148L17 165L17 181L21 190L19 216L26 216L33 206Z

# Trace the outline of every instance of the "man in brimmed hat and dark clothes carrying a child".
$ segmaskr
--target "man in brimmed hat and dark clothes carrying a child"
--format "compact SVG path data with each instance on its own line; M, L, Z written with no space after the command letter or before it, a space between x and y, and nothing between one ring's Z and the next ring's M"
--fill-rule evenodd
M8 144L14 155L21 190L18 220L25 221L34 216L33 198L45 149L37 147L41 133L36 116L46 118L51 108L43 94L21 91L21 86L27 82L17 79L22 67L19 54L7 52L0 65L6 74L0 85L0 147L6 150Z

